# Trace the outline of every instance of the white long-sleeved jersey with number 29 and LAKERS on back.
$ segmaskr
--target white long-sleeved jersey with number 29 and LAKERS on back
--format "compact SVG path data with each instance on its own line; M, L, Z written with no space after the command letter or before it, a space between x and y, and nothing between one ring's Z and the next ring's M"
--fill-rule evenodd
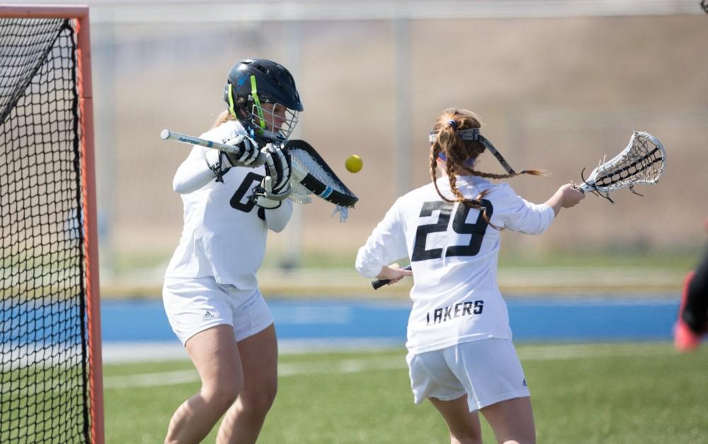
M438 186L454 199L447 177L438 179ZM483 203L499 228L539 234L555 217L552 207L527 202L506 183L459 176L457 188L472 198L487 190ZM384 265L410 258L413 309L406 347L411 353L511 338L496 281L499 234L479 210L445 202L430 183L396 200L359 249L356 268L369 278Z

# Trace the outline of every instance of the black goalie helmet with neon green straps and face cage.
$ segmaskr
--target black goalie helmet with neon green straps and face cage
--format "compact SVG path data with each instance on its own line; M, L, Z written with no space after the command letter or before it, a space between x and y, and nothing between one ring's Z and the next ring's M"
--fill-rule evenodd
M229 72L224 101L261 144L287 140L303 109L290 72L267 59L237 62Z

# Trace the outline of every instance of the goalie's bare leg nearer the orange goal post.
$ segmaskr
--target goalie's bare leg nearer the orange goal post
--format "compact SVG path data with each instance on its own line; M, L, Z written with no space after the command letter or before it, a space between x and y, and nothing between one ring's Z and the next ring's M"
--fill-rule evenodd
M202 388L187 399L170 421L165 443L200 443L224 411L234 403L244 385L239 349L230 325L219 325L195 334L186 343Z

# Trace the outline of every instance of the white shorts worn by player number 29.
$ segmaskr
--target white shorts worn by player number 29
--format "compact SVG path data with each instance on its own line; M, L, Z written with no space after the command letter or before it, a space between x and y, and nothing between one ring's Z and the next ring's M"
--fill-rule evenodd
M467 394L469 411L530 396L510 339L481 339L406 356L416 404L452 401Z

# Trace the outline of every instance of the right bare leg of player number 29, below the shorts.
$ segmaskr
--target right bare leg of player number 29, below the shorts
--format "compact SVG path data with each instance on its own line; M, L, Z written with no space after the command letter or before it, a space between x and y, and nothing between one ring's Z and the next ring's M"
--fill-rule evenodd
M497 402L484 407L481 412L494 431L498 443L536 443L536 427L530 397Z

